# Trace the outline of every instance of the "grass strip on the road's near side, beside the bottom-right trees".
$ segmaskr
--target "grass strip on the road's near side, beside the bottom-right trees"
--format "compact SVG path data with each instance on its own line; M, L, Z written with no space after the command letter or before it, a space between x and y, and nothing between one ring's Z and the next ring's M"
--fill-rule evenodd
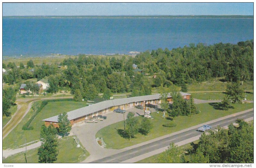
M182 150L182 153L185 153L185 152L187 152L187 150L191 150L193 148L192 143L198 144L198 142L199 142L199 140L196 140L194 142L187 143L185 145L181 145L181 146L178 147L178 149ZM147 157L147 158L142 159L142 160L140 160L138 162L135 162L135 163L159 163L159 162L157 162L157 159L158 159L158 157L163 155L164 152L153 155L153 156L150 156L150 157Z

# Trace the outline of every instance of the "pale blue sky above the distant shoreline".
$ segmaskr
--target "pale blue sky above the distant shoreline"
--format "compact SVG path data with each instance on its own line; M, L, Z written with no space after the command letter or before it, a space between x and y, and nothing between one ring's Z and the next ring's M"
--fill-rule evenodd
M3 3L3 16L253 15L253 3Z

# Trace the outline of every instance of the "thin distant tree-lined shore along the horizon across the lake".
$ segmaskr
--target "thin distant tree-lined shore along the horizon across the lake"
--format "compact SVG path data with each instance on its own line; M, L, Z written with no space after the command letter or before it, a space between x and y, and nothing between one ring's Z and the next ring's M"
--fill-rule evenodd
M253 18L253 15L3 16L3 18Z

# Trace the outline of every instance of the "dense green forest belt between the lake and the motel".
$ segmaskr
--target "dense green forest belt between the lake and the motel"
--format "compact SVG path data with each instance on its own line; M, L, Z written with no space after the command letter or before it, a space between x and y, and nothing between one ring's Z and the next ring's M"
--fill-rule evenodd
M138 65L143 73L135 72L133 64ZM15 65L9 62L3 64L3 68L9 69L3 74L3 80L20 84L30 78L47 78L50 84L48 92L70 90L76 97L84 99L93 99L99 93L106 97L111 93L124 92L132 92L132 96L147 95L154 87L184 86L216 77L243 85L244 81L253 80L253 40L235 45L218 43L206 46L199 43L172 50L159 48L134 58L79 55L75 59L64 60L60 65L67 68L44 63L35 66L32 60L26 67L22 63Z

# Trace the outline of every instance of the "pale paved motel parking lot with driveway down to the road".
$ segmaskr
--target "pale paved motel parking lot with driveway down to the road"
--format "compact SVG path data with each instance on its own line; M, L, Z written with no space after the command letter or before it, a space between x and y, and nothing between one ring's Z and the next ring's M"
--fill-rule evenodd
M148 107L146 107L148 109ZM155 112L156 110L154 108L149 108L151 112ZM100 159L103 157L107 157L113 154L116 154L117 152L120 152L122 150L114 150L114 149L106 149L102 148L98 145L96 142L96 133L110 125L116 122L123 121L124 118L126 119L126 116L129 112L133 112L134 116L144 115L143 109L138 108L129 108L126 110L126 113L109 113L104 116L107 116L106 120L99 121L97 123L82 123L78 124L76 126L73 126L70 133L71 135L76 135L79 139L79 141L83 144L83 146L90 152L90 156L86 159L86 162L90 162L90 160Z

